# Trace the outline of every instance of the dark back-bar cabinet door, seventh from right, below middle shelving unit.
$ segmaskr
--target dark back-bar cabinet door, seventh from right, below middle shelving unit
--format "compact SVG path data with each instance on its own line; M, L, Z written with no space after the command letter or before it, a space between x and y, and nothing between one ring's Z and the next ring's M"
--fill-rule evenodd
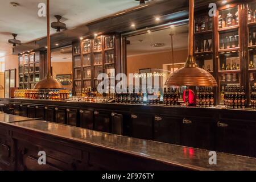
M80 127L85 129L93 129L93 111L92 110L80 110Z

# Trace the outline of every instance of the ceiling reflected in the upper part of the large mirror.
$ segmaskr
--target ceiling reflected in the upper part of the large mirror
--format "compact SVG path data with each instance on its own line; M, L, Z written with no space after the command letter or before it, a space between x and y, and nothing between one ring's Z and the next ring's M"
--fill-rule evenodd
M188 48L188 24L166 28L164 30L154 31L146 34L131 36L127 38L130 44L127 45L127 55L139 55L144 53L154 53L171 50L171 36L173 33L174 49ZM152 44L163 43L163 47L153 47Z

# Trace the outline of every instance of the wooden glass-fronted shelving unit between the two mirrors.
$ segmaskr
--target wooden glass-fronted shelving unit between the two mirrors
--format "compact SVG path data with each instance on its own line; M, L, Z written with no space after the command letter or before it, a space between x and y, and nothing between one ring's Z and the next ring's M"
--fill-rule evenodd
M120 46L120 35L115 33L73 43L73 94L79 96L88 87L96 90L100 73L115 77L121 72Z

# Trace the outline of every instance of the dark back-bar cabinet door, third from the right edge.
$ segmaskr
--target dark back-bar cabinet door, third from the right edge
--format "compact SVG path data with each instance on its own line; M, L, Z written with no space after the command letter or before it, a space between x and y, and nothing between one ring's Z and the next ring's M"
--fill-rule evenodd
M154 119L154 140L158 142L180 144L181 123L181 118L156 115Z

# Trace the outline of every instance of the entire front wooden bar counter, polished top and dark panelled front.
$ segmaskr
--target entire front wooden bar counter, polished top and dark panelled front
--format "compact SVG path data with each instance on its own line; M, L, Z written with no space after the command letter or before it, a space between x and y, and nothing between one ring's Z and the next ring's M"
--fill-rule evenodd
M0 114L0 167L18 170L256 170L256 159ZM4 121L3 121L4 120ZM46 165L38 152L46 152Z

